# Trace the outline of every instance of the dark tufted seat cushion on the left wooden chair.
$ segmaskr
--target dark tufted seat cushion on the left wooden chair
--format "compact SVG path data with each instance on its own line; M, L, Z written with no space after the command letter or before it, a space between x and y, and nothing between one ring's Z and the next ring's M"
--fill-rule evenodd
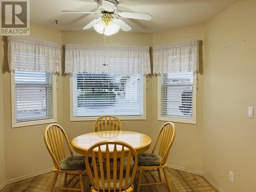
M59 162L62 170L81 170L86 169L84 162L84 156L71 156L66 159L62 159Z

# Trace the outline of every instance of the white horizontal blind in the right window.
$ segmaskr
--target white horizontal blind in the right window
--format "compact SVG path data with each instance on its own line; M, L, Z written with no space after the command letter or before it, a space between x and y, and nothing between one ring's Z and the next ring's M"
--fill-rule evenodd
M193 72L162 75L162 117L193 119Z

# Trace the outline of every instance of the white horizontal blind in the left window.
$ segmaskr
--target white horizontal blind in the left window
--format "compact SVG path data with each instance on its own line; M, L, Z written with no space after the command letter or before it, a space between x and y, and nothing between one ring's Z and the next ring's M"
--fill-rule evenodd
M52 118L52 74L15 71L16 122Z

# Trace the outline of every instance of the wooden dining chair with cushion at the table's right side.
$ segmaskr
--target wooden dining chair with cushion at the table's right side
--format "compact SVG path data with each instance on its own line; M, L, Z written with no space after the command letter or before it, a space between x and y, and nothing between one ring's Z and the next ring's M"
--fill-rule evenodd
M157 140L152 150L152 153L143 153L138 155L139 180L138 180L137 192L140 191L141 185L154 185L154 184L164 184L164 183L167 183L169 191L170 192L172 191L172 188L170 186L170 181L167 175L166 161L169 155L170 147L172 147L173 145L175 135L176 135L175 124L172 122L164 123L158 133ZM159 140L160 140L159 151L158 151L158 155L156 155L155 150ZM159 182L156 181L155 183L141 184L141 176L142 174L144 174L143 171L152 170L152 169L157 170ZM160 169L163 169L165 181L162 181L161 179Z

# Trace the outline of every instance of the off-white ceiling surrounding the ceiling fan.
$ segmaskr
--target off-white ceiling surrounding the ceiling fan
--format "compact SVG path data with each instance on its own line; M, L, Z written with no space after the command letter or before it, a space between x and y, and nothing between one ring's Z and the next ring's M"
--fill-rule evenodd
M124 19L132 32L152 33L203 24L238 0L120 0L119 11L145 12L152 20ZM97 15L61 13L61 10L96 11L97 0L31 0L31 22L58 30L77 31ZM58 25L53 24L58 20Z

